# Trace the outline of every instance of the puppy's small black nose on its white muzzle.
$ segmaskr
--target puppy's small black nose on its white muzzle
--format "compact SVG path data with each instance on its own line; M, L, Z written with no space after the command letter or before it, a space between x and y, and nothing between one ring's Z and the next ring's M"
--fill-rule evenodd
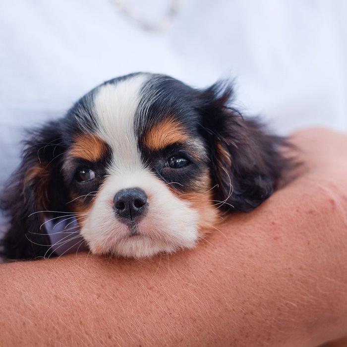
M128 222L140 217L147 208L147 195L140 188L119 190L114 198L116 215Z

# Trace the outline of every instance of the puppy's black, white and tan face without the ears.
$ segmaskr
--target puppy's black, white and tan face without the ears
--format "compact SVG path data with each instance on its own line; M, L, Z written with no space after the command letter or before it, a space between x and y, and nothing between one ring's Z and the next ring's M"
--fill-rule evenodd
M63 175L92 252L172 252L216 223L199 114L179 87L143 74L107 83L72 127Z

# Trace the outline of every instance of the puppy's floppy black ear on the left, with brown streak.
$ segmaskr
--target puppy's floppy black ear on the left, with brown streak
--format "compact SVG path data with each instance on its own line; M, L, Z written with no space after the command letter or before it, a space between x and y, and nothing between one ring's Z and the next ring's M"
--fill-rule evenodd
M9 218L9 230L2 239L7 259L42 256L50 246L44 223L45 213L65 211L63 191L58 189L60 159L64 153L58 123L30 132L24 142L22 162L1 194L1 208ZM66 200L65 200L66 201Z

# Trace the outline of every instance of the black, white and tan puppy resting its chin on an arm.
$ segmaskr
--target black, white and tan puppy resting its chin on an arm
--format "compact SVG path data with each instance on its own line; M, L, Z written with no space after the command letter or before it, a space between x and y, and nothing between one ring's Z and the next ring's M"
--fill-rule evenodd
M197 90L133 73L31 131L2 197L4 257L58 255L71 242L94 254L170 253L194 247L221 215L257 207L288 169L284 139L231 102L225 82Z

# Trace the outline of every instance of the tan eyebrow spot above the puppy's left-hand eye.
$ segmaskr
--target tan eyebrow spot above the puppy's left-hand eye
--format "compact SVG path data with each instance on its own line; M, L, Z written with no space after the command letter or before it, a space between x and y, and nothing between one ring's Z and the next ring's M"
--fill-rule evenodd
M106 143L98 136L83 134L74 138L69 155L90 162L97 162L105 156L106 151Z

